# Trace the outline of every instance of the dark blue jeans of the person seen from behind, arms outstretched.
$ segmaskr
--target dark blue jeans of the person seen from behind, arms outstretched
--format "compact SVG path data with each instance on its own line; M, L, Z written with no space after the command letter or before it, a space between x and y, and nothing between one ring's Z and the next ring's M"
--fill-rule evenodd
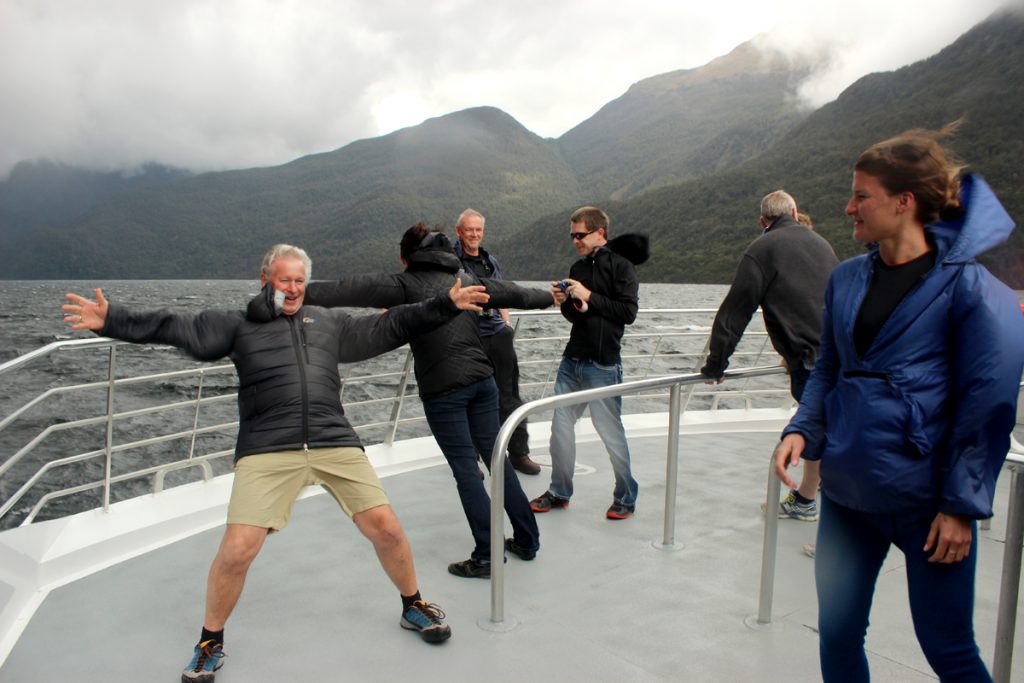
M427 424L452 468L462 509L469 522L475 547L471 557L477 562L490 561L490 497L483 486L477 466L477 453L490 468L490 452L498 436L498 387L487 378L462 389L423 400ZM505 467L505 513L512 522L515 545L537 550L541 532L529 509L526 494L508 458ZM499 531L501 532L501 531Z

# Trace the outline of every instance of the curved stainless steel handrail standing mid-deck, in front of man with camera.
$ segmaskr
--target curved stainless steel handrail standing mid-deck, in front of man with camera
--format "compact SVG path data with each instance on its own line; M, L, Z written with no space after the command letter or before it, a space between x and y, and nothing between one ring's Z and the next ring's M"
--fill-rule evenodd
M771 368L750 368L727 372L726 379L744 379L761 377L764 375L779 375L785 372L781 366ZM505 468L502 461L505 458L505 450L508 447L509 439L515 428L528 416L542 411L561 408L564 405L575 405L587 403L592 400L611 398L627 394L637 394L651 389L669 389L671 392L669 421L670 431L668 434L669 446L666 457L667 479L671 482L676 480L679 454L679 419L680 387L687 384L705 382L702 375L689 373L686 375L673 375L670 377L657 377L646 380L636 380L633 382L623 382L607 387L596 389L585 389L571 393L559 394L531 400L523 403L505 420L501 429L498 430L498 437L495 439L495 447L490 453L490 528L500 529L505 523ZM675 543L675 519L676 519L676 489L666 486L665 490L665 523L663 530L663 545L671 546ZM490 556L504 557L505 539L501 533L490 535ZM505 621L505 565L502 562L490 563L490 623L501 625Z

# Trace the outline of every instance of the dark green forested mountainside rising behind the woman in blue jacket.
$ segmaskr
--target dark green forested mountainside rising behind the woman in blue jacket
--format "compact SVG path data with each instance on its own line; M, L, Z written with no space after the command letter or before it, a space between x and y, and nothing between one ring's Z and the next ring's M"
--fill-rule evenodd
M650 282L727 283L760 227L761 197L779 187L814 218L841 258L863 247L843 213L853 164L873 142L901 131L939 128L963 117L948 140L999 196L1011 216L1024 216L1024 13L1004 11L916 63L866 76L797 124L764 153L714 176L603 205L612 234L651 239ZM545 216L514 241L492 245L507 272L522 279L565 273L574 251L565 234L570 207ZM559 225L553 229L552 225ZM525 247L547 242L557 249ZM1024 289L1024 230L982 259L1011 287Z

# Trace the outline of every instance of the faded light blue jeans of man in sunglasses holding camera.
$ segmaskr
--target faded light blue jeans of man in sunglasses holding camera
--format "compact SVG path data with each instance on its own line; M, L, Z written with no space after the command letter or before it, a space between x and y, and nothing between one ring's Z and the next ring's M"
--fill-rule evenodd
M569 393L582 389L621 384L623 366L602 366L593 360L562 358L555 379L555 393ZM621 396L555 409L551 420L551 485L548 490L558 498L572 497L572 472L575 470L575 423L590 405L594 429L604 441L615 473L616 503L636 505L640 486L630 471L630 445L623 428L623 399Z

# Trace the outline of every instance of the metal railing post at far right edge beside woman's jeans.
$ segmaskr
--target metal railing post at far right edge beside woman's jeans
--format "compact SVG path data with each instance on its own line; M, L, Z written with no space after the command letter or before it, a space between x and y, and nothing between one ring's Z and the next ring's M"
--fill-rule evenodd
M992 680L1010 683L1020 595L1021 549L1024 546L1024 466L1010 467L1010 506L1007 511L1007 542L1002 548L1002 579L995 617L995 654Z

